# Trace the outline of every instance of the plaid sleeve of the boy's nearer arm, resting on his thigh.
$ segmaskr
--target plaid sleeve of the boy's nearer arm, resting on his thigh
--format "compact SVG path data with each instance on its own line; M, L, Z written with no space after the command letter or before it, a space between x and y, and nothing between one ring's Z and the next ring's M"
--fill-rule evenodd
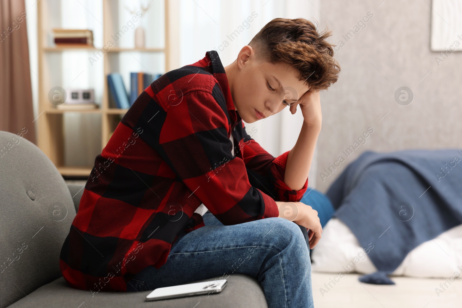
M189 91L167 112L159 154L221 223L278 217L274 199L249 183L243 159L231 154L230 130L218 85Z

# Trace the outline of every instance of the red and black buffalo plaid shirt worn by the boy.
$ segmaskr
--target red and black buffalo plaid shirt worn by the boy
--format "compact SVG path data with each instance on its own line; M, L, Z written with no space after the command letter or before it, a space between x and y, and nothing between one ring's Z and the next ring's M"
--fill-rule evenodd
M288 153L273 157L246 133L215 50L165 73L96 157L62 275L74 288L125 291L140 270L167 261L180 233L204 226L202 203L225 225L278 217L275 200L299 201L308 186L284 182Z

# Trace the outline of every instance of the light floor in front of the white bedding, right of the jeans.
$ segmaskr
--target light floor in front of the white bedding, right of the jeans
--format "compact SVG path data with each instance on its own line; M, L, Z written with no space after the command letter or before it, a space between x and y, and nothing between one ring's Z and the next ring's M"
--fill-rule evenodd
M312 272L315 308L462 308L462 277L446 290L440 287L445 279L391 277L393 285L364 284L359 274L346 274L339 282L324 286L337 274ZM335 278L339 280L339 278ZM449 281L449 280L448 280ZM321 293L320 288L328 291ZM437 295L435 288L444 290Z

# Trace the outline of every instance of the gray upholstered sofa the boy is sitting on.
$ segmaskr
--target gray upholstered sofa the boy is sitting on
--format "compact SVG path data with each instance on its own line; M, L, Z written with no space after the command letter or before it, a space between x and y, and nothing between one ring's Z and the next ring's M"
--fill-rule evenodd
M258 281L238 274L221 293L156 302L146 302L150 291L93 295L69 287L59 255L82 193L36 145L0 131L0 308L267 307Z

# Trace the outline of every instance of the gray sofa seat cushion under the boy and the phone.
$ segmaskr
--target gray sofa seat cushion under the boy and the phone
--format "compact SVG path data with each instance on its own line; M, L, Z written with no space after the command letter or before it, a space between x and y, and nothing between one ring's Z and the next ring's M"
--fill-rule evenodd
M220 279L214 277L210 279L198 280L208 281ZM142 292L98 292L77 290L70 288L64 278L38 288L29 296L15 302L8 308L37 308L37 307L252 307L267 308L265 295L261 290L260 284L255 278L247 275L234 274L227 278L228 283L220 293L210 295L188 296L182 298L172 298L154 302L146 302L145 298L151 291ZM197 305L200 302L199 305ZM81 305L81 306L80 306ZM197 306L196 306L197 305Z

